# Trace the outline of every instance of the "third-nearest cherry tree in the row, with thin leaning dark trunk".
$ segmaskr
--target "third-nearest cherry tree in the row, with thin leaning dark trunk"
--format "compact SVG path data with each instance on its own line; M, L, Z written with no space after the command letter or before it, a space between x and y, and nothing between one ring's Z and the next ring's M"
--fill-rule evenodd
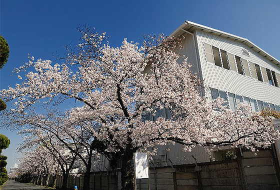
M37 122L37 124L40 123ZM49 122L47 123L45 120L45 125L48 124ZM32 157L30 153L28 153L27 158L30 160L34 159L35 163L41 165L40 167L36 166L34 168L37 175L39 177L46 175L48 181L50 174L54 174L57 177L57 173L59 172L59 174L63 176L61 189L65 190L68 176L77 161L76 154L69 151L67 146L73 146L72 148L75 149L75 145L67 144L67 146L65 146L53 133L43 130L42 127L30 125L30 127L20 130L19 133L25 135L23 143L18 148L20 151L35 148L35 151L31 152ZM63 140L67 142L66 139ZM34 167L34 164L30 165ZM53 182L53 185L55 185L55 182L56 181Z

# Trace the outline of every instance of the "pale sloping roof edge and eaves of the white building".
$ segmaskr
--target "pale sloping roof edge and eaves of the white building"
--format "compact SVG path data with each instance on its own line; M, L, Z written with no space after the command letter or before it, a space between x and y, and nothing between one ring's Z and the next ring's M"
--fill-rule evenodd
M248 40L247 38L244 37L240 37L237 35L233 35L218 29L214 29L205 25L201 25L198 23L194 23L191 21L184 21L177 29L175 29L170 36L179 36L181 35L184 30L188 31L188 32L192 32L194 29L199 29L199 30L203 30L203 31L207 31L209 33L215 34L215 35L219 35L222 37L226 37L226 38L230 38L239 42L242 42L244 44L246 44L248 47L250 47L251 49L253 49L254 51L256 51L257 53L259 53L260 55L262 55L263 57L267 58L269 61L273 62L274 64L278 65L280 64L280 61L277 60L275 57L273 57L272 55L268 54L266 51L264 51L263 49L261 49L260 47L258 47L256 44L254 44L253 42L251 42L250 40Z

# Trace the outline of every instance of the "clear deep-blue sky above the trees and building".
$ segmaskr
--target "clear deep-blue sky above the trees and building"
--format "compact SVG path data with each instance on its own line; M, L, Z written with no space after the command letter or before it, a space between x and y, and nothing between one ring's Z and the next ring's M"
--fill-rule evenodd
M184 20L248 38L280 59L279 0L0 0L0 34L10 54L0 70L0 88L19 82L14 67L36 58L53 59L63 45L75 42L77 25L90 24L106 31L112 46L123 38L137 41L143 34L170 34ZM11 139L9 169L15 162L20 136L0 129Z

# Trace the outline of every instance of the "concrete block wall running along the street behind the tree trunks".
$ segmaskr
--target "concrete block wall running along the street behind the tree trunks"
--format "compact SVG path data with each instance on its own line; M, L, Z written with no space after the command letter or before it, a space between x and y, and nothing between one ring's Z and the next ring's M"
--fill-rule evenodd
M236 159L150 167L149 180L137 179L137 189L148 190L266 190L279 189L279 169L273 149L236 153ZM37 180L38 181L38 180ZM45 184L45 179L43 180ZM53 177L49 178L49 184ZM67 187L82 190L83 176L69 176ZM57 178L61 187L62 176ZM120 189L120 172L92 172L90 190Z

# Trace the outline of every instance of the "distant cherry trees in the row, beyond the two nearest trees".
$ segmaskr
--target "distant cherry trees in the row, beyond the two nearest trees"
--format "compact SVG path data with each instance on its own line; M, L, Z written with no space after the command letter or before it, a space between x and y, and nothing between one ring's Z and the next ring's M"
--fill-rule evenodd
M43 130L34 129L30 132L29 129L23 129L20 133L24 134L25 138L18 147L23 156L19 160L19 169L16 173L20 176L17 178L24 181L27 176L29 180L42 184L43 176L46 176L46 185L48 186L49 177L52 175L54 181L51 184L55 187L59 174L63 176L61 189L66 189L69 174L76 174L74 172L78 163L76 154ZM39 181L34 181L35 179Z

